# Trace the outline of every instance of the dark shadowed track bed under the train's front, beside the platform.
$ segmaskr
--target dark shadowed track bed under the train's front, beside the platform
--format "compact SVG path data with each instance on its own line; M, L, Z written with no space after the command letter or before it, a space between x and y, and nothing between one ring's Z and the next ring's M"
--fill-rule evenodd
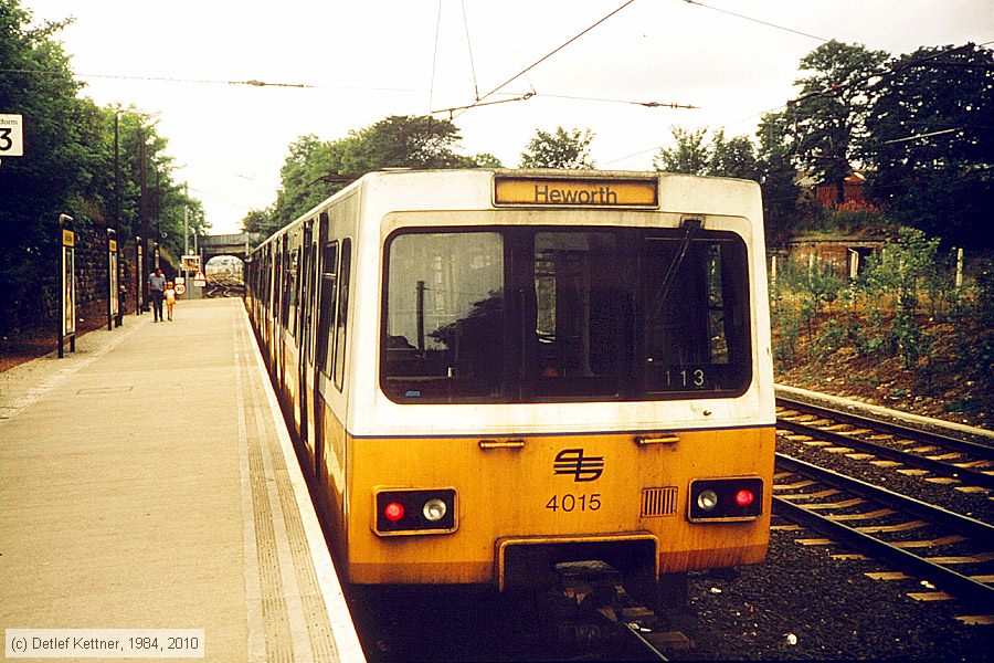
M613 569L578 568L546 590L362 588L350 606L369 660L380 663L667 661L665 652L692 644L628 596Z

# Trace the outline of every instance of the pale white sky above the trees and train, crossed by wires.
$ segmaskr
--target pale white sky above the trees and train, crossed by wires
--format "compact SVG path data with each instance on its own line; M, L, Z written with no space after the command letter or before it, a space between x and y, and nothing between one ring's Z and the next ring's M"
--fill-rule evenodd
M895 55L994 40L991 0L701 1L707 7L635 0L501 90L539 96L456 117L457 151L491 152L516 167L536 129L589 128L600 168L647 170L673 125L751 136L763 112L795 96L797 63L822 41L710 8ZM441 21L438 0L21 4L35 22L75 18L57 39L86 83L83 94L157 114L167 152L182 167L175 178L203 202L212 232L229 233L248 210L275 201L287 147L299 136L337 139L389 115L472 103L474 70L479 94L490 92L622 3L441 0ZM223 83L250 80L316 87ZM507 96L487 101L497 98Z

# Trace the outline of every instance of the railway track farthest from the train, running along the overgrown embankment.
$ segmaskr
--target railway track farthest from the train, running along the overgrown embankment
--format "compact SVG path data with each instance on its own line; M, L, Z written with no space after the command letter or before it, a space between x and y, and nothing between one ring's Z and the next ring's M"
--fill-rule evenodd
M921 473L963 492L994 490L994 448L990 444L782 397L776 403L778 430L811 438L833 453L853 454L849 457L906 474Z

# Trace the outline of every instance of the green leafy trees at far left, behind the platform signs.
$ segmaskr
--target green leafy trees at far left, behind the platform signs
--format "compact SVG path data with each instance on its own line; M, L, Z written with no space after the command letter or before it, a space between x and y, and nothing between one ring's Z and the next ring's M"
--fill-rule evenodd
M120 193L119 240L137 228L137 146L151 141L147 156L160 173L155 208L159 230L171 233L177 204L190 204L194 227L202 210L171 182L166 141L155 127L130 110L120 112L121 187L115 183L114 119L118 110L97 107L80 96L70 61L54 39L67 22L32 24L18 0L0 2L0 113L24 119L25 149L0 167L0 334L55 318L59 255L57 220L68 213L83 238L102 238L115 223ZM145 123L142 125L142 123ZM144 131L135 128L144 126ZM167 242L168 243L168 242Z

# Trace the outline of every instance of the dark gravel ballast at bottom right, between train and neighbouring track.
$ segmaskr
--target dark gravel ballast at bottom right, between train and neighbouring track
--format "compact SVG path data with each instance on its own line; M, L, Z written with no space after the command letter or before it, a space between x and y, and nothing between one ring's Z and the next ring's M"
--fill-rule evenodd
M917 659L985 661L992 627L954 619L952 602L907 596L916 580L871 580L874 561L834 560L839 546L801 546L810 533L773 532L762 565L691 578L697 648L670 660ZM791 638L793 635L794 638Z

